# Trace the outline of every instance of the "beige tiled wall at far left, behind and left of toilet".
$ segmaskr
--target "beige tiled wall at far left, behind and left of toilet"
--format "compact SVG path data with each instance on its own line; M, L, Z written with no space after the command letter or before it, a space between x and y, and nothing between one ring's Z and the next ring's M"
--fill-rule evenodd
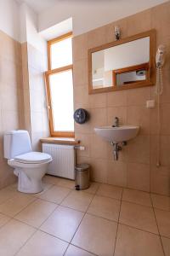
M0 31L0 188L15 180L13 168L3 159L3 134L23 126L21 47Z

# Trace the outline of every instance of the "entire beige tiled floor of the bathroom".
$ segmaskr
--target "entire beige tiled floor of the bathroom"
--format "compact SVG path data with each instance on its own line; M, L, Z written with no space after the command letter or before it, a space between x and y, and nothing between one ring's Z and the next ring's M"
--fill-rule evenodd
M170 197L44 177L44 191L0 190L2 256L170 256Z

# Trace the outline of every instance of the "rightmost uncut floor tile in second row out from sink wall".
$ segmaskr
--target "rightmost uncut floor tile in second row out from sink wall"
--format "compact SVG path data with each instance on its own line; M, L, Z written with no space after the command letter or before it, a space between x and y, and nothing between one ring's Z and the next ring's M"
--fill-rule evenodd
M120 223L158 234L155 215L151 207L122 201Z

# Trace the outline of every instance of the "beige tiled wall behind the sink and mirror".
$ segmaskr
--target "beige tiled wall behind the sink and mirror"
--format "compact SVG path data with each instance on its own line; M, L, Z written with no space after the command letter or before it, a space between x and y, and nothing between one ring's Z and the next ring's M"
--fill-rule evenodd
M75 109L86 108L91 119L76 125L76 137L86 146L78 162L91 164L92 179L100 183L170 195L170 2L99 27L73 39ZM88 49L114 40L114 26L122 38L156 29L156 44L167 46L161 96L161 167L156 168L156 108L146 108L155 86L88 95ZM112 125L115 116L122 125L140 125L139 136L127 143L114 161L111 145L94 133L97 125Z

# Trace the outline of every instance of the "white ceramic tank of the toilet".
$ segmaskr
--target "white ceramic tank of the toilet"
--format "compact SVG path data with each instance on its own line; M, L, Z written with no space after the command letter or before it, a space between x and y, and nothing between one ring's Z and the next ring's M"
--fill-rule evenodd
M8 131L3 137L4 158L12 159L19 154L32 151L28 131Z

